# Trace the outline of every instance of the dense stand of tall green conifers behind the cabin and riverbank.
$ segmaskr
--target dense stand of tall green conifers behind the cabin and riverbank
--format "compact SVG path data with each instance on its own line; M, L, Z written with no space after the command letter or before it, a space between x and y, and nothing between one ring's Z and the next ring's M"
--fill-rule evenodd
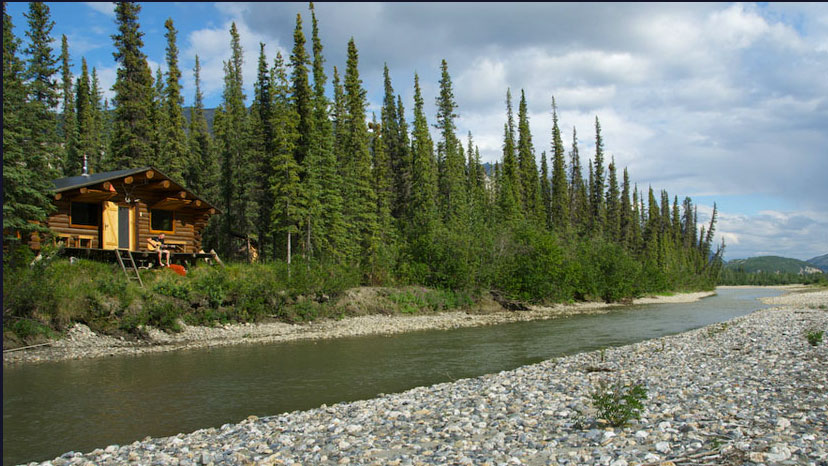
M80 174L86 156L93 173L154 166L217 206L202 248L225 261L247 260L238 238L249 238L259 262L347 268L354 286L487 290L530 302L716 284L724 245L713 244L715 206L699 226L689 197L635 184L607 157L600 115L565 146L554 89L543 96L553 125L534 133L522 90L491 96L503 101L502 155L483 164L474 135L457 132L462 102L449 63L434 64L437 95L424 95L411 72L411 102L386 67L381 111L369 115L357 44L323 46L311 4L296 16L289 56L266 56L261 44L252 95L233 24L208 126L198 57L193 70L179 68L169 19L167 71L150 69L140 11L116 6L118 71L107 101L95 68L72 55L65 36L51 36L47 4L29 4L24 47L4 3L4 242L5 232L44 228L32 221L51 209L51 180ZM326 47L347 47L346 63L326 62ZM195 82L186 108L183 73ZM425 114L427 99L435 115ZM585 137L594 153L579 150Z

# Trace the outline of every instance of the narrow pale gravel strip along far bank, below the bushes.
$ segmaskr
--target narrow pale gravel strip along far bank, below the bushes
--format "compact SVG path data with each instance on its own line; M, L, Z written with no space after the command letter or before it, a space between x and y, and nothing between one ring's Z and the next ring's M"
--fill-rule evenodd
M688 303L711 296L715 292L679 293L671 296L650 296L632 303L600 302L527 306L527 310L508 311L491 303L484 312L441 312L414 315L370 314L324 319L303 324L268 322L229 324L217 327L188 326L181 323L179 333L165 333L149 328L146 340L126 340L98 335L83 324L76 324L64 338L47 345L3 353L3 364L32 364L69 359L90 359L119 355L139 355L195 348L238 344L284 343L297 340L322 340L364 335L393 335L420 330L443 330L497 325L509 322L554 319L575 314L600 313L629 304ZM492 310L497 309L497 310Z

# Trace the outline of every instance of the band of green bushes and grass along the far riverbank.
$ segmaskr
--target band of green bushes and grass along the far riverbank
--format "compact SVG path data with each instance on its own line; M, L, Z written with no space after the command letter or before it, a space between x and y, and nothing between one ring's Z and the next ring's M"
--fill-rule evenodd
M70 262L48 253L33 262L31 252L20 248L4 256L4 349L46 342L75 323L95 333L136 340L146 339L149 327L178 332L182 322L208 327L302 323L377 313L629 302L652 293L712 290L718 273L715 266L708 269L679 260L681 256L665 256L672 259L664 267L638 262L624 248L600 239L585 239L567 249L547 232L529 227L517 231L499 239L480 238L492 242L481 251L500 251L497 261L482 253L460 257L448 250L431 265L400 260L394 276L382 281L387 286L371 287L377 290L371 293L346 293L372 284L359 267L349 264L297 260L290 267L281 261L199 265L186 277L150 269L140 272L141 288L113 264ZM493 246L498 241L500 248ZM446 245L435 238L428 248L440 244ZM474 263L486 257L490 264Z

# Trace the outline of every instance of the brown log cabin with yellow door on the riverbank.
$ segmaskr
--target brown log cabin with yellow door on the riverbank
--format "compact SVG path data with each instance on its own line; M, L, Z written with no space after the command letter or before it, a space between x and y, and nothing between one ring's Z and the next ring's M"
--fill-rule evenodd
M196 257L201 234L218 212L154 167L60 178L52 195L56 211L47 226L73 253L121 249L152 258L149 239L164 233L174 255ZM39 249L39 241L35 235L30 246Z

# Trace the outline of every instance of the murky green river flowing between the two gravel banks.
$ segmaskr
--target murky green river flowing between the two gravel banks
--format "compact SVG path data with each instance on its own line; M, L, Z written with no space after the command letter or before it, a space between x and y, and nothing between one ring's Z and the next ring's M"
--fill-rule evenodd
M689 304L458 330L241 345L3 369L3 464L42 461L514 369L767 307L762 288Z

